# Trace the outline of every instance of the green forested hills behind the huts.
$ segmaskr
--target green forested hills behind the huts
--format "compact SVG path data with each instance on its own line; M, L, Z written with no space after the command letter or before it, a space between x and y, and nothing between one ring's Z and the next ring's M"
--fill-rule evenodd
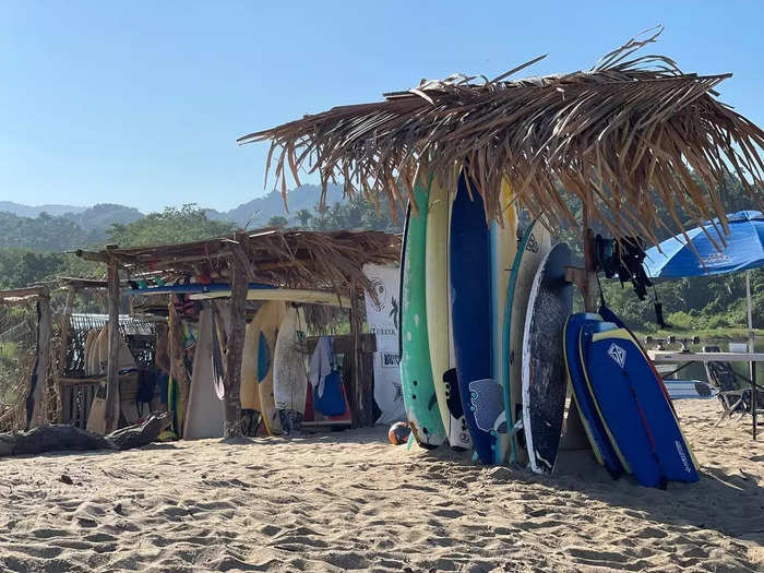
M720 190L720 194L729 212L755 208L755 205L750 204L739 181L730 181ZM241 205L236 214L236 222L196 205L168 207L162 213L146 216L120 205L96 205L80 214L83 218L87 217L88 212L94 218L100 217L97 224L91 223L93 227L98 228L89 230L83 230L69 215L50 217L44 214L37 218L25 218L2 213L0 247L4 248L0 249L0 288L28 285L56 275L89 276L103 273L99 265L87 264L75 256L60 253L67 249L88 244L136 246L196 240L231 232L248 222L249 228L271 225L317 230L349 228L401 232L403 229L404 214L391 213L389 204L384 201L379 205L379 211L359 198L329 201L324 208L319 208L320 190L314 186L293 190L288 196L288 214L284 211L280 194L273 192ZM342 199L341 188L332 188L329 196ZM570 198L566 198L566 201L581 218L581 206ZM120 208L109 211L111 207ZM267 208L272 215L263 219L261 207ZM252 210L256 211L256 216L253 216ZM108 212L115 213L117 219L106 225L105 216ZM662 215L665 220L670 220L668 213ZM687 213L679 215L683 222L693 226ZM140 218L130 220L135 216ZM258 225L253 224L254 220ZM660 231L660 238L669 236L668 230ZM578 229L558 229L557 239L566 240L577 253L581 252ZM641 331L656 329L653 307L656 294L664 306L668 322L681 330L723 330L742 327L745 323L742 274L712 279L664 282L657 284L655 290L650 289L648 300L645 301L637 299L630 285L626 284L622 288L618 280L602 279L602 288L608 303L633 327ZM754 323L764 325L764 271L753 273L752 291Z

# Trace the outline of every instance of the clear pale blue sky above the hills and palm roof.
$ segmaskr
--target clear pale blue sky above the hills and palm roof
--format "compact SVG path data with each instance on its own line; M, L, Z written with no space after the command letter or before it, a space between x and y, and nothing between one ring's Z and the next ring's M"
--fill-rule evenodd
M264 193L236 138L422 77L589 68L656 24L685 71L764 123L760 1L0 2L0 200L195 202Z

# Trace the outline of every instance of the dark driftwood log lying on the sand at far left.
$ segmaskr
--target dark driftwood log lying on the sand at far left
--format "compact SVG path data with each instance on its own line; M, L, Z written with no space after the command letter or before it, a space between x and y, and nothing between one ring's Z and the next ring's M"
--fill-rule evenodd
M0 433L0 457L57 451L130 450L155 441L170 425L168 411L151 414L143 423L129 426L108 435L74 426L43 426L28 432Z

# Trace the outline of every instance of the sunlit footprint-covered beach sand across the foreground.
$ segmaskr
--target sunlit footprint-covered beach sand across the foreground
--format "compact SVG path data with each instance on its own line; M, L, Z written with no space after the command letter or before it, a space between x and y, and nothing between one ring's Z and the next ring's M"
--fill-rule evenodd
M750 418L678 403L695 485L552 477L386 444L381 429L0 459L1 571L762 571Z

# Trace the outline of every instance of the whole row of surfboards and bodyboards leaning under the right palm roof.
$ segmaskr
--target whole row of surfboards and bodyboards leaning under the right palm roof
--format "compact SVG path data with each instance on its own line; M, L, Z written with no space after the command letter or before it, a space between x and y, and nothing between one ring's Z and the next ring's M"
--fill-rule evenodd
M427 449L446 442L454 449L471 449L485 464L527 463L534 471L551 473L569 383L576 389L576 397L580 390L588 391L590 399L585 404L596 404L595 396L607 403L600 409L592 407L590 416L601 418L607 413L617 417L622 407L618 399L623 393L610 396L609 390L599 391L599 385L607 386L607 377L612 377L612 371L606 374L601 369L599 356L606 344L600 339L616 335L607 326L612 322L600 319L598 324L584 327L582 323L577 329L581 319L576 318L566 327L573 290L564 275L571 250L564 243L552 247L542 224L517 222L509 186L500 193L502 222L490 226L479 193L464 176L455 192L437 180L420 179L414 199L417 208L409 206L402 251L398 329L402 390L414 439ZM601 332L586 334L596 327ZM578 370L570 368L570 336L584 339L584 349L576 348ZM636 354L628 351L629 373L642 377L644 368L637 368ZM589 382L584 386L586 378L578 372L587 371ZM640 384L645 393L648 386L661 387L655 378ZM666 396L662 406L670 410ZM635 411L640 407L630 406ZM648 407L653 411L652 403ZM658 409L655 406L656 413ZM587 416L585 407L582 416ZM658 420L670 421L656 414L632 431L643 427L643 433L650 434L648 425ZM676 418L672 420L679 432ZM596 425L585 426L593 445L601 446L595 453L605 463L600 457L604 445L589 431ZM602 422L600 427L607 426ZM602 434L611 444L626 439L625 429L618 428ZM661 444L669 440L666 435L652 438ZM683 440L681 444L684 457L691 459ZM612 449L623 454L618 446ZM631 452L631 443L623 450ZM636 475L634 464L621 462L623 469Z

